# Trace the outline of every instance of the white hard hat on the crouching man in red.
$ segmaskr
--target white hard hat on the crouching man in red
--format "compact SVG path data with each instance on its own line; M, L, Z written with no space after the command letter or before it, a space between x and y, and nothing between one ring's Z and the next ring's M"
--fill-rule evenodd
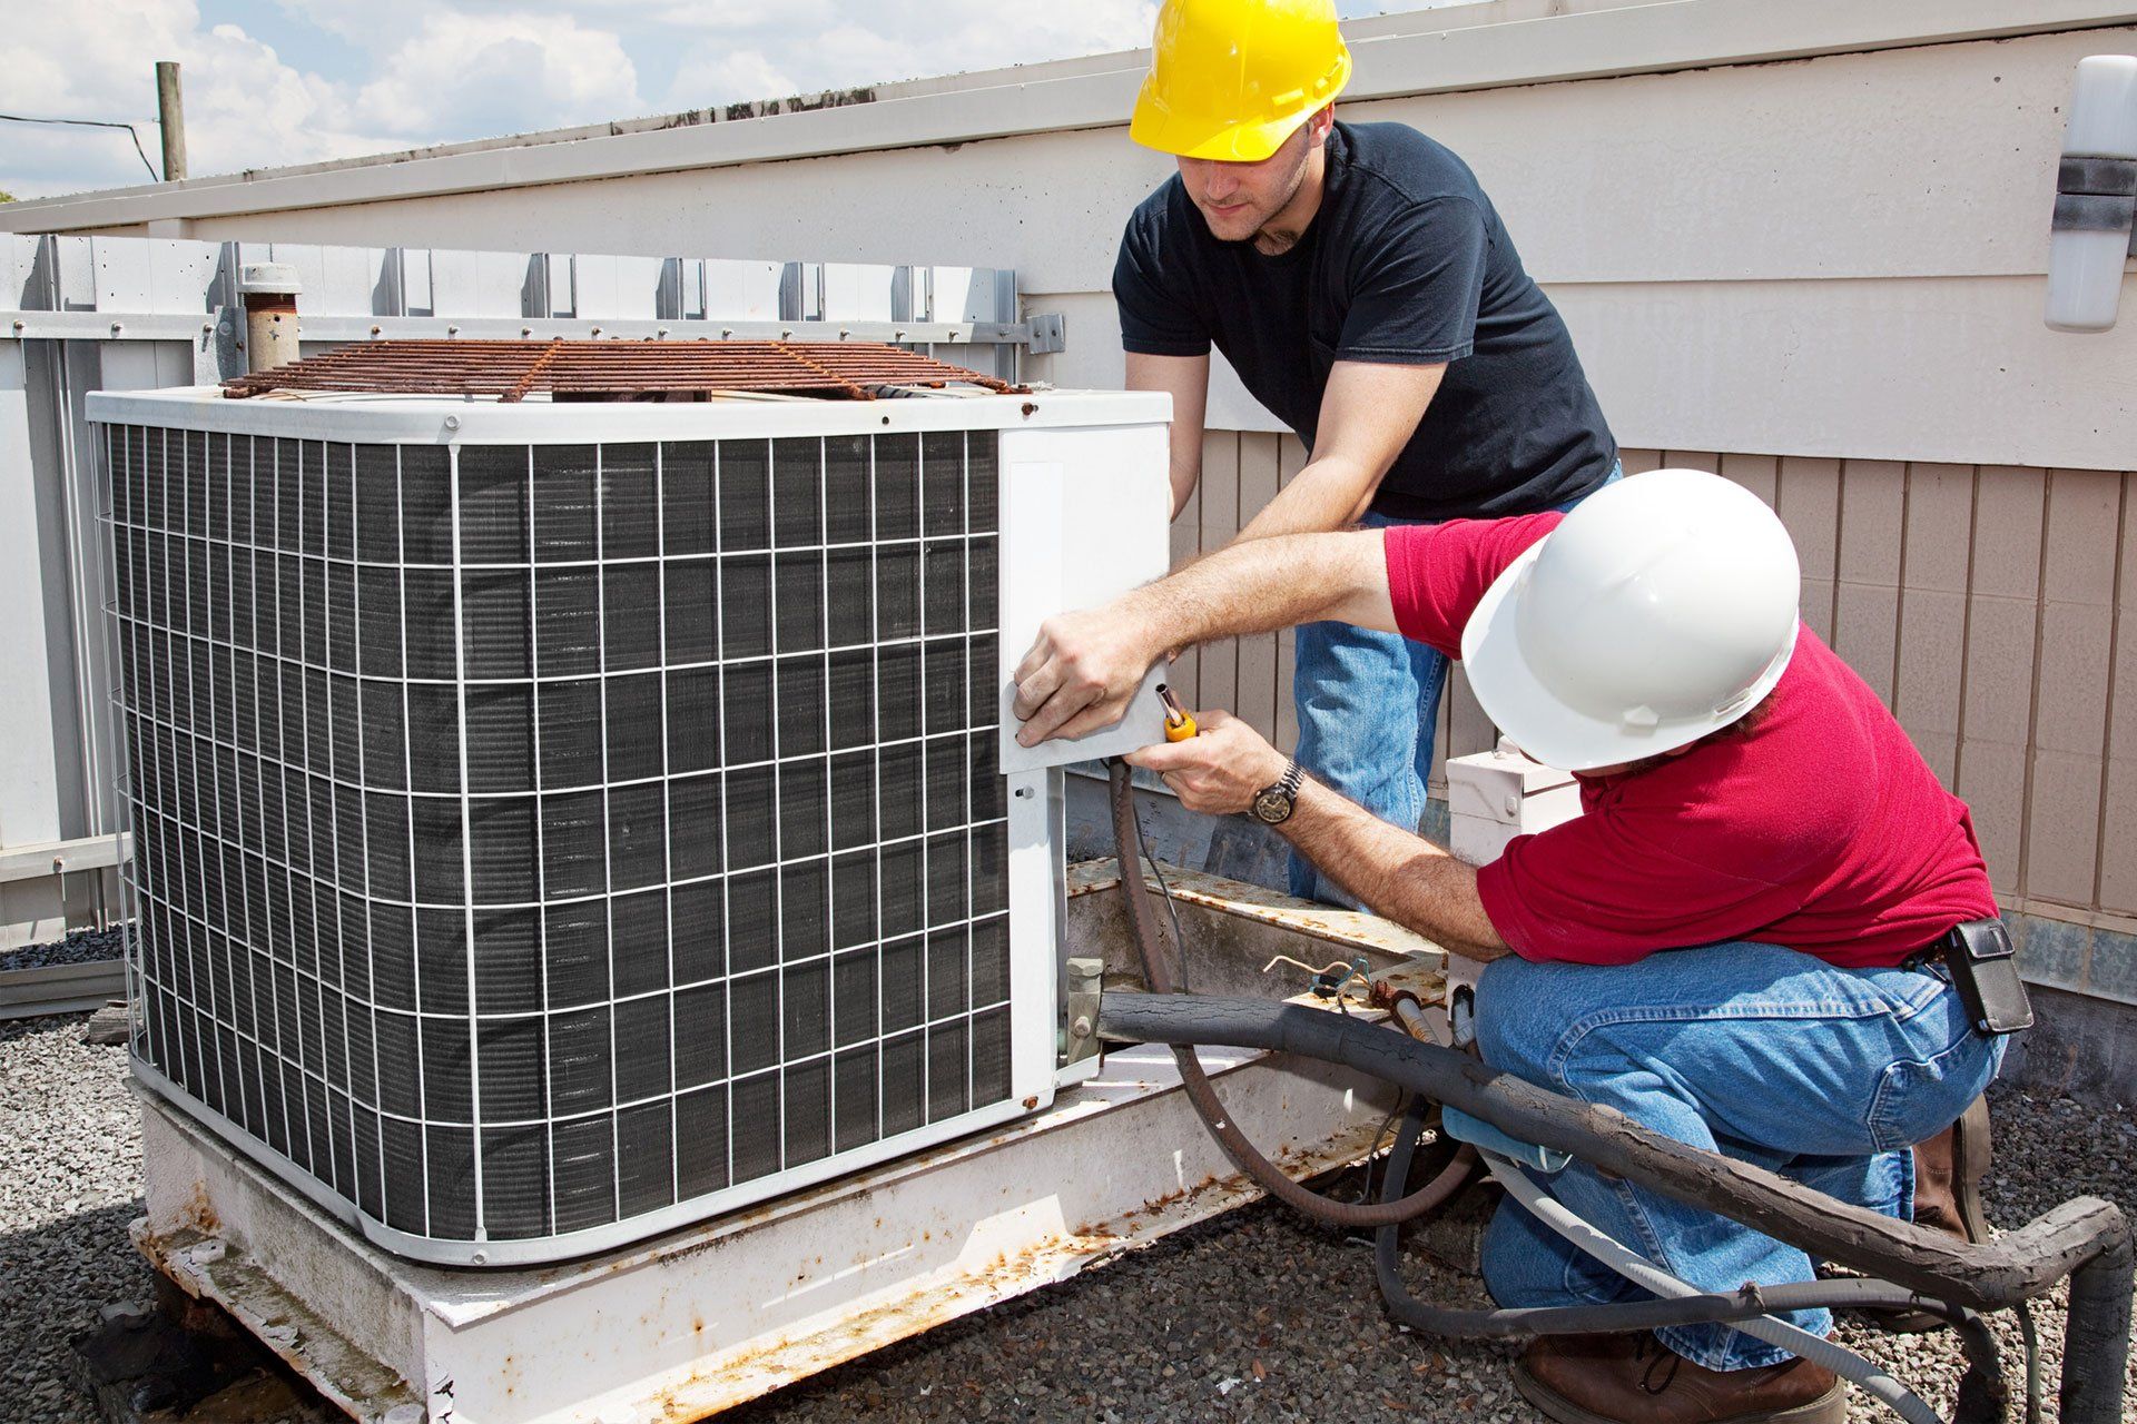
M1795 651L1795 544L1701 470L1573 508L1485 591L1462 666L1494 726L1564 771L1673 751L1759 705Z

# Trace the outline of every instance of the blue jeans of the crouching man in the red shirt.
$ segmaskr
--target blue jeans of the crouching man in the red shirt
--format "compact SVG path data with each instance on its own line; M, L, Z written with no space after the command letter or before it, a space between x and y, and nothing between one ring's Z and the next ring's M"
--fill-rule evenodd
M1972 1031L1940 971L1836 969L1742 942L1609 967L1500 959L1477 986L1477 1040L1485 1063L1537 1087L1900 1219L1915 1211L1908 1146L1957 1121L2007 1042ZM1795 1247L1581 1161L1537 1183L1701 1289L1812 1279ZM1483 1279L1504 1307L1645 1298L1511 1198L1485 1232ZM1791 1319L1831 1330L1827 1311ZM1718 1371L1791 1358L1727 1326L1656 1334Z

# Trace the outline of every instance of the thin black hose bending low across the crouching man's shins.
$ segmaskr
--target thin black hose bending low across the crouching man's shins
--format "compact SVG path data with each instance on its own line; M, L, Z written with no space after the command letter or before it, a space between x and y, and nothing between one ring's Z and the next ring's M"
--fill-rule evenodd
M1410 1155L1425 1132L1425 1104L1417 1104L1395 1134L1387 1155L1385 1196L1402 1191ZM2009 1407L2009 1383L1996 1336L1977 1311L1919 1296L1889 1281L1797 1281L1789 1285L1746 1287L1735 1296L1682 1296L1678 1300L1613 1300L1609 1304L1502 1307L1494 1311L1457 1311L1419 1300L1402 1281L1402 1228L1383 1225L1374 1232L1372 1272L1381 1300L1398 1322L1425 1334L1449 1339L1522 1339L1532 1334L1611 1334L1628 1330L1660 1330L1665 1326L1705 1326L1782 1315L1789 1311L1923 1311L1951 1324L1966 1351L1966 1375L1960 1379L1957 1424L2000 1424Z

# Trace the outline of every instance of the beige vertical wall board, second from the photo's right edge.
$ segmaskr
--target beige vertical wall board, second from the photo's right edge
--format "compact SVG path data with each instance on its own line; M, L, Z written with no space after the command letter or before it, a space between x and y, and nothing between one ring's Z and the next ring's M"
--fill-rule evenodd
M2064 905L2096 886L2120 504L2118 476L2049 476L2026 895Z

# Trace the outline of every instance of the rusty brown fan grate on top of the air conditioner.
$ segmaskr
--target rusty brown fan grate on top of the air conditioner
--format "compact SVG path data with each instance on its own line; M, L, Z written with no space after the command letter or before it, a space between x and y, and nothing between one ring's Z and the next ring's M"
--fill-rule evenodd
M885 386L972 384L1024 393L878 342L359 342L222 382L231 399L269 391L494 395L517 401L701 401L718 393L876 399Z

